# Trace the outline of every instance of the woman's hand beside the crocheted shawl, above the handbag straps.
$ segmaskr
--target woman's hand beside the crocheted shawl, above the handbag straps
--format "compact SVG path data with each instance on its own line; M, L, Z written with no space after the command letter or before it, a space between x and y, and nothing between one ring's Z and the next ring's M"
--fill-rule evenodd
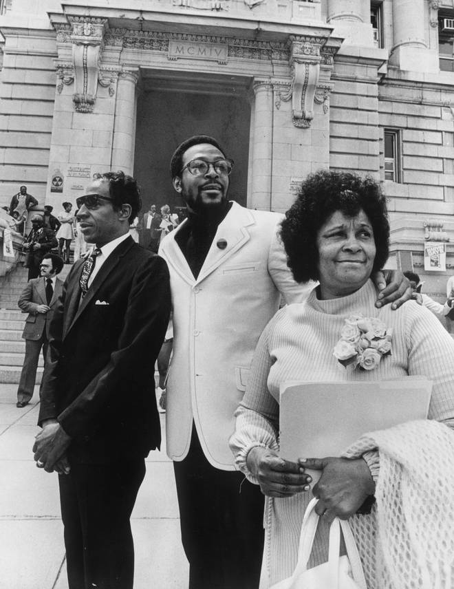
M347 520L358 511L368 495L374 495L374 479L363 458L307 458L300 460L300 465L323 471L312 494L318 498L316 513L323 515L328 523L336 516Z

